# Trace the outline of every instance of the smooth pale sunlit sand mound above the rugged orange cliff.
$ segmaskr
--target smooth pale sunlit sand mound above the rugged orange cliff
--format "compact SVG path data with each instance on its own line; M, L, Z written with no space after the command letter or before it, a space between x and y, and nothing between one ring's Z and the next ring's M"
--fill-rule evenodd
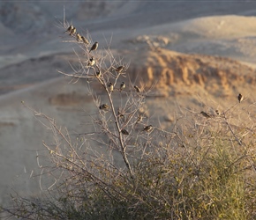
M215 16L137 30L125 42L134 49L148 42L181 53L221 55L255 62L256 18Z

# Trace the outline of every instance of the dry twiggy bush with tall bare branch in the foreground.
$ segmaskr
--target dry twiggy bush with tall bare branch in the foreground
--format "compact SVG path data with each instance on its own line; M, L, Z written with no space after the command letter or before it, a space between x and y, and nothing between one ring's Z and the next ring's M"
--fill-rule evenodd
M242 107L237 101L218 114L177 110L168 129L150 129L150 89L133 84L129 63L116 60L109 48L90 51L88 34L88 44L71 30L65 34L85 55L78 55L73 74L61 73L73 82L88 80L95 114L87 123L94 130L73 138L68 128L27 106L54 137L44 143L49 163L41 165L41 179L52 181L38 197L13 196L12 206L2 208L6 218L255 219L254 103ZM101 85L108 101L90 82ZM38 160L40 165L45 158Z

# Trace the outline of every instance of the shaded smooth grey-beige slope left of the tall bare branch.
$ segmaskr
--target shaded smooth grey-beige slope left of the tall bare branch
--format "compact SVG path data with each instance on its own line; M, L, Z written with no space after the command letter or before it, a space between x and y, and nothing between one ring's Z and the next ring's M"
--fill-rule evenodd
M83 131L80 119L87 119L83 109L90 114L94 106L90 104L92 100L85 95L84 84L68 82L69 80L64 78L56 78L0 98L0 172L4 175L0 181L0 194L5 194L6 188L13 186L24 188L27 192L34 191L34 187L38 187L38 179L30 182L29 176L31 172L38 174L36 155L46 153L42 140L53 142L50 130L37 121L33 112L23 106L21 101L43 114L54 117L59 126L68 126L73 137ZM72 97L56 102L66 94L72 94ZM78 101L75 101L76 99ZM22 178L17 179L16 175L20 174ZM24 184L23 181L27 183ZM4 202L3 197L1 202Z

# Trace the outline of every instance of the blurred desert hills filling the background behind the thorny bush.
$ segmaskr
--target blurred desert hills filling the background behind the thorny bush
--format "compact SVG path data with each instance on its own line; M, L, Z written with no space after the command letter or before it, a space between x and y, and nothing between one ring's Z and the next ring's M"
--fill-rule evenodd
M1 2L1 204L10 193L39 189L37 155L45 153L42 141L52 142L51 132L26 106L54 118L74 137L91 129L87 115L96 106L87 81L74 84L57 71L72 73L73 49L79 49L65 42L64 15L99 42L99 51L110 46L130 63L132 84L150 90L154 126L161 121L169 128L179 108L223 111L237 103L238 93L245 96L242 105L255 103L256 3Z

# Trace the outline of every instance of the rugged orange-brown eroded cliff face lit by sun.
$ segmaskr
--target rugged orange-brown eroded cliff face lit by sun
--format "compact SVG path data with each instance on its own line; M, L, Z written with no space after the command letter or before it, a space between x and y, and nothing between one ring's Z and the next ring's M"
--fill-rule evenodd
M239 86L255 85L256 71L230 58L184 55L163 48L127 54L131 59L129 77L147 88L154 85L181 92L200 87L214 95L229 95Z

